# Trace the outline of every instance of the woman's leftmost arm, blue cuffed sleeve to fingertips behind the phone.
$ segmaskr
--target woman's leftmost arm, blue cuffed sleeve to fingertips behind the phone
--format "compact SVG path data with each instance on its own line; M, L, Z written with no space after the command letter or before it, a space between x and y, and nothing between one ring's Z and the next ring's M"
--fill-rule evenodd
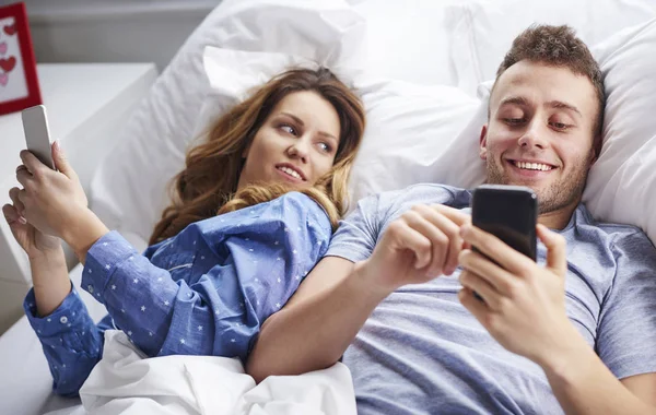
M2 213L30 258L34 288L23 307L43 345L55 393L74 396L101 358L107 323L93 323L78 293L71 289L61 241L25 220L17 193L17 188L10 191L13 204L2 206Z

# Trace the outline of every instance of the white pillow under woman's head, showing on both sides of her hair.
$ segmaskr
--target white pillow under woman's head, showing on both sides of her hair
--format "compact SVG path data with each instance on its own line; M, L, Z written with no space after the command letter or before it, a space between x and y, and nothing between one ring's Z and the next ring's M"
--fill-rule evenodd
M314 67L283 54L247 52L208 47L207 75L212 85L201 116L202 130L226 103L292 66ZM351 174L352 201L385 190L431 181L433 164L456 139L479 106L450 86L389 81L348 68L331 68L360 94L367 127ZM351 204L353 205L353 203Z

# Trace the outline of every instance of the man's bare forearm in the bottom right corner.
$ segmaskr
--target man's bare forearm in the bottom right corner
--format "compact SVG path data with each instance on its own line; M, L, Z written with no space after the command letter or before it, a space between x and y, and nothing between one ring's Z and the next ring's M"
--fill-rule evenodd
M566 414L656 414L656 407L637 398L604 365L572 328L565 351L542 366Z

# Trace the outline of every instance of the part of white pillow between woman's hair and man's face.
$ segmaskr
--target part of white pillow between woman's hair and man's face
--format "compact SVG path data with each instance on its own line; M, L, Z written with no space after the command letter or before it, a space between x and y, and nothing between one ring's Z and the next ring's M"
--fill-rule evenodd
M351 198L434 181L434 166L467 126L479 100L444 85L354 80L366 108ZM450 163L449 163L450 164Z

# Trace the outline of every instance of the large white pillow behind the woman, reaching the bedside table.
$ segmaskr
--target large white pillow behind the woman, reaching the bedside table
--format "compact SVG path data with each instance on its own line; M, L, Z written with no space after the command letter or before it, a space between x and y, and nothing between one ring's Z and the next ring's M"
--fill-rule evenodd
M207 45L356 67L363 32L362 16L343 0L224 0L176 54L98 167L92 209L109 228L148 240L209 91Z

